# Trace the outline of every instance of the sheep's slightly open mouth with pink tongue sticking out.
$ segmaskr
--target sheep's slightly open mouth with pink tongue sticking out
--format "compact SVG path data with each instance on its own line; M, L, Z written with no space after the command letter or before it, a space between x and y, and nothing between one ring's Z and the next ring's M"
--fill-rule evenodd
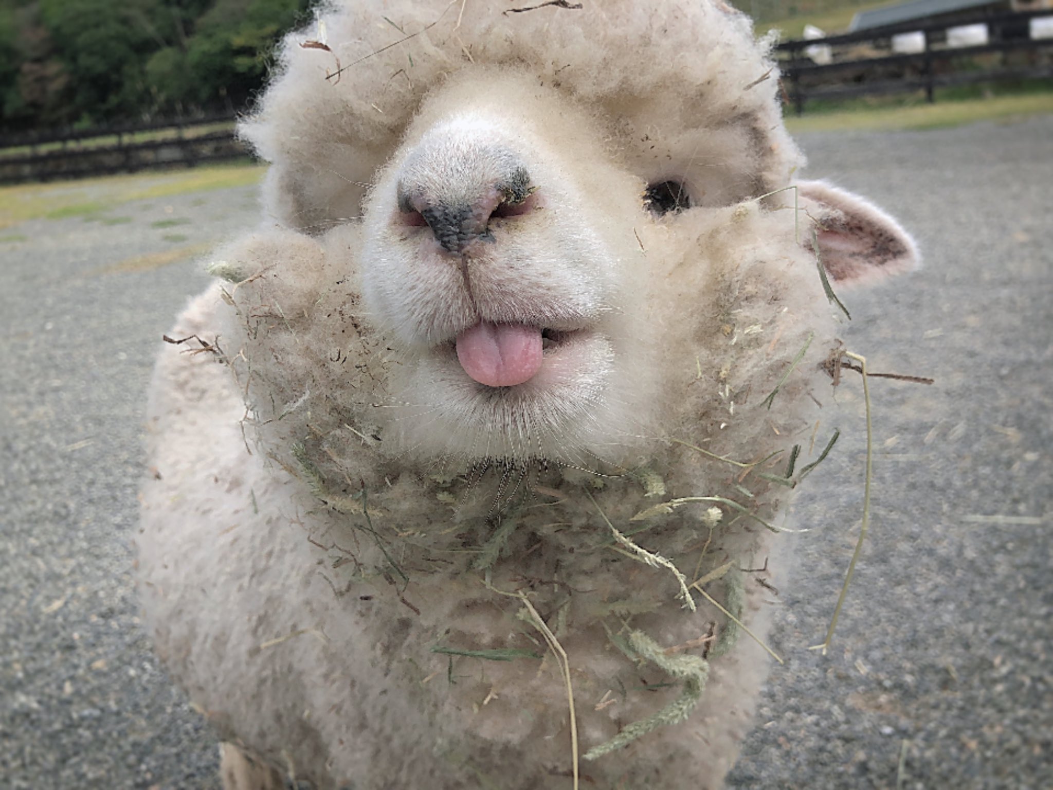
M585 330L555 330L526 323L480 321L446 344L464 373L492 389L531 381L547 361Z

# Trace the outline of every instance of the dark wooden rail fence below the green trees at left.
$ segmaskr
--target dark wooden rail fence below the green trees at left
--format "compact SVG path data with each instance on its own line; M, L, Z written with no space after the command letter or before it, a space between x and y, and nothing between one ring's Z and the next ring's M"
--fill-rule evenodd
M249 151L234 136L235 120L235 116L223 115L0 135L0 183L187 167L247 158Z

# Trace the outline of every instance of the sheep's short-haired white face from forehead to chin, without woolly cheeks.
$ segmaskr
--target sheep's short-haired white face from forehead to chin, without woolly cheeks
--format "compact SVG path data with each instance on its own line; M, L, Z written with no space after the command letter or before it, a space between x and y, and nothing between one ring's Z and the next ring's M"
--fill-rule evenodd
M645 183L602 139L558 94L483 72L437 92L383 171L363 296L401 352L415 452L583 462L639 432Z

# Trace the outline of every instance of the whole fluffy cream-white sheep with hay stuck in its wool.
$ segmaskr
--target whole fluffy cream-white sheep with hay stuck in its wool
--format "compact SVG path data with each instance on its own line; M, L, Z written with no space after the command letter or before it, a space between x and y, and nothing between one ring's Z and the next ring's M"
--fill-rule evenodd
M267 223L161 355L142 594L227 788L719 786L767 672L722 610L763 637L774 478L835 427L817 255L916 260L784 189L720 0L496 5L290 37Z

